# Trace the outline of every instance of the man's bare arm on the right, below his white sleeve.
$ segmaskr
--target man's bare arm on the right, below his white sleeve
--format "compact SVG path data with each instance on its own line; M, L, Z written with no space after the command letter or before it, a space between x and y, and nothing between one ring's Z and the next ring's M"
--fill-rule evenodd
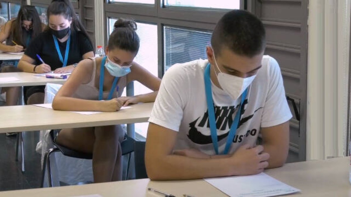
M264 152L270 154L267 168L284 165L289 151L289 121L273 127L261 128Z

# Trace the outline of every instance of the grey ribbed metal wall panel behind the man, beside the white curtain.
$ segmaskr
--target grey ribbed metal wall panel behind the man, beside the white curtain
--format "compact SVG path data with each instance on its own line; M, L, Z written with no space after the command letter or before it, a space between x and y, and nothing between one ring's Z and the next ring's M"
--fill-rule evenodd
M307 0L254 0L266 28L266 53L282 71L286 95L295 100L300 121L290 121L288 162L306 159ZM294 114L291 102L289 107Z

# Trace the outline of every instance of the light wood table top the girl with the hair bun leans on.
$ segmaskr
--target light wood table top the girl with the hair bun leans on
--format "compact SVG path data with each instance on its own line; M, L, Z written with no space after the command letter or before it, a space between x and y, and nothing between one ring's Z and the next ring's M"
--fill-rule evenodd
M0 133L147 122L152 107L153 103L140 103L117 112L92 115L32 105L0 107Z

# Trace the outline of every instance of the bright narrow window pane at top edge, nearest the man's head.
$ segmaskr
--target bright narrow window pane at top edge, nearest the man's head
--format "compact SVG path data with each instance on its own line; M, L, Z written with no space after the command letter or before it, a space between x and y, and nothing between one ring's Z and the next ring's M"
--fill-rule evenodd
M165 6L240 9L240 0L166 0Z

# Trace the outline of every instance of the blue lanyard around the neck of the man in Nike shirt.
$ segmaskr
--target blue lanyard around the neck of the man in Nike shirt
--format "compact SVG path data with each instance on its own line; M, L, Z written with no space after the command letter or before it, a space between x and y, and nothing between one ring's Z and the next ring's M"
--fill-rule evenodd
M206 101L207 101L207 110L208 110L208 121L210 123L210 130L211 130L211 138L213 143L213 148L216 154L218 155L218 138L217 138L217 125L216 125L216 118L214 116L214 105L213 105L213 98L212 98L212 88L211 88L211 78L210 78L210 63L207 64L205 69L205 92L206 92ZM225 145L225 149L223 155L228 154L229 148L233 144L233 139L235 134L237 133L237 128L239 125L240 120L240 112L243 109L243 103L246 99L247 89L241 95L241 103L240 108L237 109L237 114L234 118L232 126L229 130L229 135L227 138L227 143Z

